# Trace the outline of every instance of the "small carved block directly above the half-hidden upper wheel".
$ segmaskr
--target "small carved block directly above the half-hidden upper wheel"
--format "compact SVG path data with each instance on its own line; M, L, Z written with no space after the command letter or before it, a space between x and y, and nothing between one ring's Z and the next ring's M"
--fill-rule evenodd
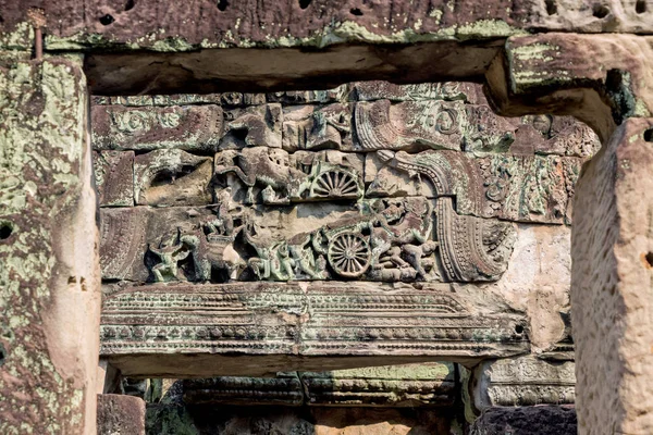
M352 148L352 109L347 103L297 105L284 109L283 149Z

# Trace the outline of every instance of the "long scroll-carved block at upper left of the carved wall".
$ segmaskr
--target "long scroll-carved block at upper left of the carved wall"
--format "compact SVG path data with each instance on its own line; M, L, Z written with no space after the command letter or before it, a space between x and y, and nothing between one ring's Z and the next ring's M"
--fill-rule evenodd
M96 150L178 148L214 151L222 132L222 109L211 104L94 105L91 122Z

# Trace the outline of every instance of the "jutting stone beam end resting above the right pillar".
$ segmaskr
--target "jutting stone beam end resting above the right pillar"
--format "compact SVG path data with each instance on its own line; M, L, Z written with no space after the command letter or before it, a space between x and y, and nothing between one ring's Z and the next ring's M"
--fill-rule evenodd
M486 91L502 115L574 115L605 142L626 117L653 113L651 59L651 37L516 36L488 70Z

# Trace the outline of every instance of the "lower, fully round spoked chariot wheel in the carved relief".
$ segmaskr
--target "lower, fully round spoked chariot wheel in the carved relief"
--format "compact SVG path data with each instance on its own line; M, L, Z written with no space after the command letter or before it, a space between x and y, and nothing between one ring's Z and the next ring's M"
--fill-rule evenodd
M331 268L338 275L355 278L370 266L372 251L364 236L345 232L331 239L326 254Z

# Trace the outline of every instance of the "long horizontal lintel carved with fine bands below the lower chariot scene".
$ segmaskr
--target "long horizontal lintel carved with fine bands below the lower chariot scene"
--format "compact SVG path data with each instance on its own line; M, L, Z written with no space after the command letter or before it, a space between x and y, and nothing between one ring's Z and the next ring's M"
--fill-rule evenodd
M177 356L177 370L190 375L187 355L473 361L526 351L525 316L501 312L488 297L477 304L472 295L349 282L114 285L103 298L100 353L119 368L132 355ZM293 361L296 370L311 366Z

